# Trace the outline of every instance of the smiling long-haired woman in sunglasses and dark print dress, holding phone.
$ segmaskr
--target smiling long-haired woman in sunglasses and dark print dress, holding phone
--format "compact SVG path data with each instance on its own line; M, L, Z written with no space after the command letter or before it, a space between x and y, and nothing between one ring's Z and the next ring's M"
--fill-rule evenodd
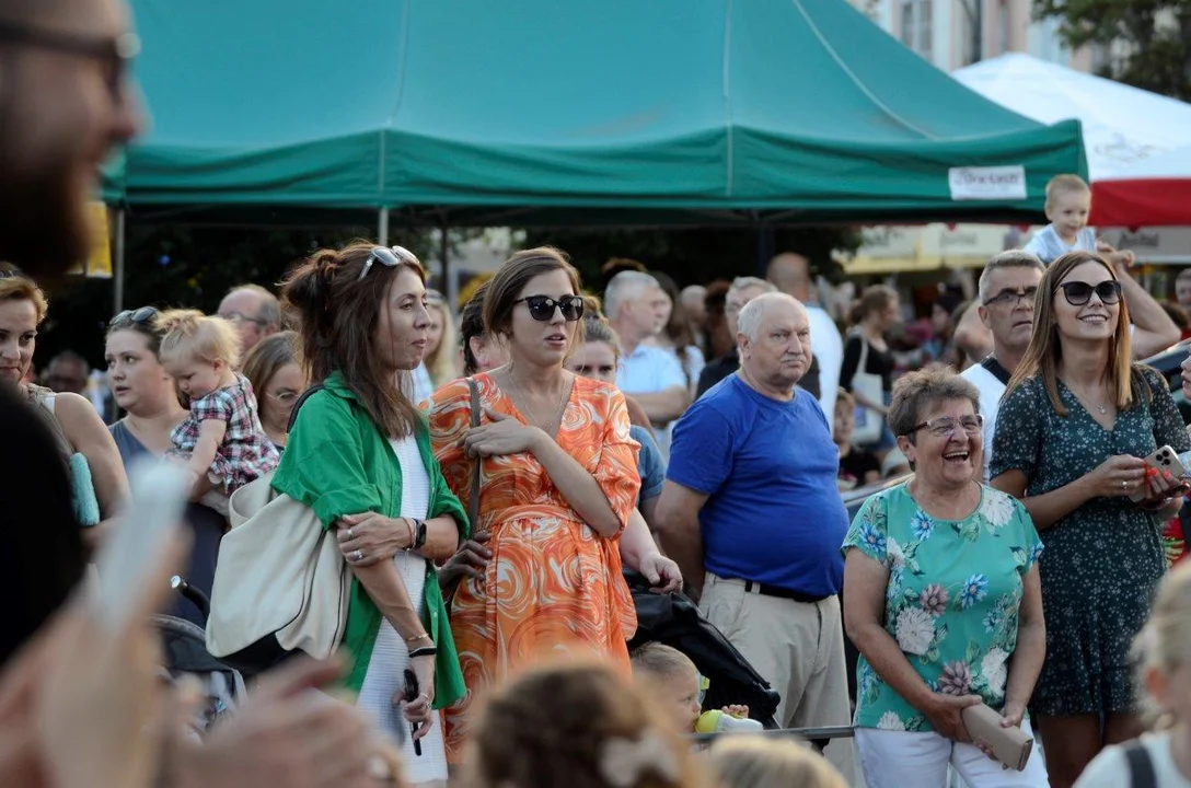
M1130 361L1121 292L1095 252L1050 264L993 437L992 484L1022 500L1046 545L1047 653L1030 709L1055 787L1139 733L1129 649L1166 571L1159 525L1183 493L1145 458L1191 448L1166 382Z

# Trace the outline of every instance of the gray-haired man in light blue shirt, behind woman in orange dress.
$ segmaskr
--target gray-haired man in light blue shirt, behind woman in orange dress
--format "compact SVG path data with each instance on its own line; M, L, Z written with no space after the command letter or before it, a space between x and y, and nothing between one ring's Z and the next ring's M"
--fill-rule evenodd
M604 314L621 338L617 387L644 408L663 450L669 445L665 427L691 402L678 356L648 342L666 327L666 300L657 280L641 271L621 271L604 290Z

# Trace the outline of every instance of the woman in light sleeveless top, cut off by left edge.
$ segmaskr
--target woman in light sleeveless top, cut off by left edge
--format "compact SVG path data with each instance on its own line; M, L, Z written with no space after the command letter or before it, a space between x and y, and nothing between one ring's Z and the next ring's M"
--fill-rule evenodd
M127 500L129 481L112 437L89 400L23 382L32 368L37 327L48 309L49 301L33 280L13 269L0 269L0 386L12 387L54 433L63 462L71 467L75 512L89 515L89 521L88 517L81 518L83 525L95 526L86 530L83 540L94 546ZM86 458L86 469L71 459L74 455ZM93 493L80 484L85 470Z

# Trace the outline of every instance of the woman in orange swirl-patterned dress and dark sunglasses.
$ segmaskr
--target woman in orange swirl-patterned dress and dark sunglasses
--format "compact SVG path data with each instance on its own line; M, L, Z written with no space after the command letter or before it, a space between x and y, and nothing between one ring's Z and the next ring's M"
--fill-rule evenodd
M509 259L484 317L510 362L475 376L484 418L470 427L467 381L439 388L431 440L451 490L469 500L482 461L476 530L492 558L455 593L451 631L467 696L447 709L448 758L459 761L474 702L547 655L596 651L629 669L637 626L617 540L637 501L637 444L624 395L563 369L580 339L575 269L554 249Z

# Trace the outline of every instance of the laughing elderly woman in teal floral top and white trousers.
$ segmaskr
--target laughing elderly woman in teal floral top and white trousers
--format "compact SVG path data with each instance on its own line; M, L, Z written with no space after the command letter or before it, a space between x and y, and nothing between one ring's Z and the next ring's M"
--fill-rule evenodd
M1029 732L1046 652L1042 544L1012 496L981 484L977 389L933 364L893 388L888 424L915 475L873 495L844 539L844 626L860 650L856 748L869 788L1047 786L1037 753L1005 771L962 709ZM984 750L984 751L983 751Z

